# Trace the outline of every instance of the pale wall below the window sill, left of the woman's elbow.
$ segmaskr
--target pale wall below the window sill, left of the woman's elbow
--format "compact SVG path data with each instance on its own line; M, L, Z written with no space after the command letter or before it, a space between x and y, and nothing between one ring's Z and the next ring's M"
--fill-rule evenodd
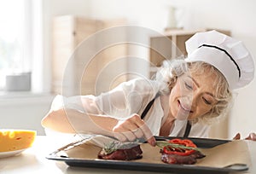
M53 96L20 93L17 98L16 95L0 99L0 129L35 130L44 135L41 119L48 113Z

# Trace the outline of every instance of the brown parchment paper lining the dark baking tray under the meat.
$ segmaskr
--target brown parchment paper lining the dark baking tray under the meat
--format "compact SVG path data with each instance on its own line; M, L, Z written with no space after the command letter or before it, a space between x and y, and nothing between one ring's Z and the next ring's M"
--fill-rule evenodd
M131 160L131 162L145 162L154 164L164 164L160 160L160 148L152 147L148 143L141 144L143 159ZM60 151L65 152L68 157L74 159L97 159L97 154L102 148L89 142L67 147ZM197 159L195 165L207 167L226 167L230 165L250 165L251 159L247 148L247 142L236 140L218 145L214 148L200 148L206 157ZM168 164L166 164L168 165Z

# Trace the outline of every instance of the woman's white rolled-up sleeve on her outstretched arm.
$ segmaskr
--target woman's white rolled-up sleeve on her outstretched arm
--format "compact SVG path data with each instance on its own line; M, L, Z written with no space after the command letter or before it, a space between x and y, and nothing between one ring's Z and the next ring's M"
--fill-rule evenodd
M56 96L52 109L65 107L82 113L126 119L132 113L140 114L159 88L154 80L135 78L99 96Z

